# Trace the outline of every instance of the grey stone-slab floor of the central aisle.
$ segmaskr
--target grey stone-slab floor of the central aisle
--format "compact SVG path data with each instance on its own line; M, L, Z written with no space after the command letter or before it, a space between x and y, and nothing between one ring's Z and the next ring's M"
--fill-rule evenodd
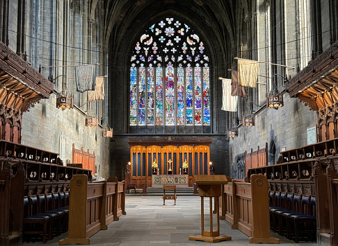
M205 243L190 241L189 236L200 235L200 197L179 196L177 204L173 200L166 200L163 206L161 196L126 195L126 216L119 221L111 222L108 229L99 231L90 237L90 245L250 245L248 236L237 229L231 229L230 224L220 220L220 235L231 236L232 240L220 243ZM209 199L204 199L204 225L209 230ZM214 216L213 216L214 217ZM216 228L216 225L214 225ZM314 246L316 243L294 243L277 234L280 244L285 246ZM58 245L58 240L66 238L67 234L58 236L47 245ZM42 245L42 243L24 243L24 246ZM268 245L268 244L266 244Z

